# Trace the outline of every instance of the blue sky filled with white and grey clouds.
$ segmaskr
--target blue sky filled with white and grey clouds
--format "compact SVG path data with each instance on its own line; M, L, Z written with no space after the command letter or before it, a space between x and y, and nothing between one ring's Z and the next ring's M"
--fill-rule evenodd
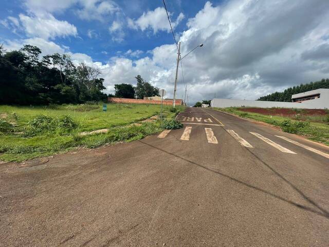
M255 99L329 77L327 0L166 0L191 103ZM176 46L162 0L2 0L0 43L98 67L106 92L140 74L172 97Z

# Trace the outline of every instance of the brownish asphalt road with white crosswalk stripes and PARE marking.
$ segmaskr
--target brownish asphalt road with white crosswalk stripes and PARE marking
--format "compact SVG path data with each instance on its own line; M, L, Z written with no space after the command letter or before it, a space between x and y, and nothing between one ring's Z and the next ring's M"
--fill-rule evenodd
M210 109L177 119L159 137L0 165L0 245L329 246L327 147Z

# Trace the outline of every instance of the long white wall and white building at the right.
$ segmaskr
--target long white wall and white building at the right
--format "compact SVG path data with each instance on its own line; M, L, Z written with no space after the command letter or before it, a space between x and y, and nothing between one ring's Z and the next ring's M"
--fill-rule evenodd
M328 109L329 89L317 89L305 93L294 94L291 102L239 100L239 99L213 99L211 107L259 107L259 108L299 108L299 109Z

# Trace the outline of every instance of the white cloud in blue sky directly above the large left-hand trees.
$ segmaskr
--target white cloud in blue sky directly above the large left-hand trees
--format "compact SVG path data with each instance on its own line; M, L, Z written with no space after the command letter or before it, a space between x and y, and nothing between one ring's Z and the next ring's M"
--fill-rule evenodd
M77 36L77 28L67 21L59 21L51 14L27 16L20 14L20 21L30 37L54 39L56 37Z

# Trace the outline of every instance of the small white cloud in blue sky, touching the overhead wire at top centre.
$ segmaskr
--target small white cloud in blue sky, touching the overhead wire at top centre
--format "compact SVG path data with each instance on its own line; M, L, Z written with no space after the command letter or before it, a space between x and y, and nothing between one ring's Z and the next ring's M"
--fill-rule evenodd
M171 16L172 14L169 13ZM184 19L184 14L180 13L176 21L172 22L172 27L175 28L179 22ZM142 31L151 28L153 33L156 33L158 30L161 31L170 31L170 26L168 23L168 17L165 8L158 7L155 10L150 10L144 12L136 21L132 19L127 19L128 26L133 29L141 29Z

